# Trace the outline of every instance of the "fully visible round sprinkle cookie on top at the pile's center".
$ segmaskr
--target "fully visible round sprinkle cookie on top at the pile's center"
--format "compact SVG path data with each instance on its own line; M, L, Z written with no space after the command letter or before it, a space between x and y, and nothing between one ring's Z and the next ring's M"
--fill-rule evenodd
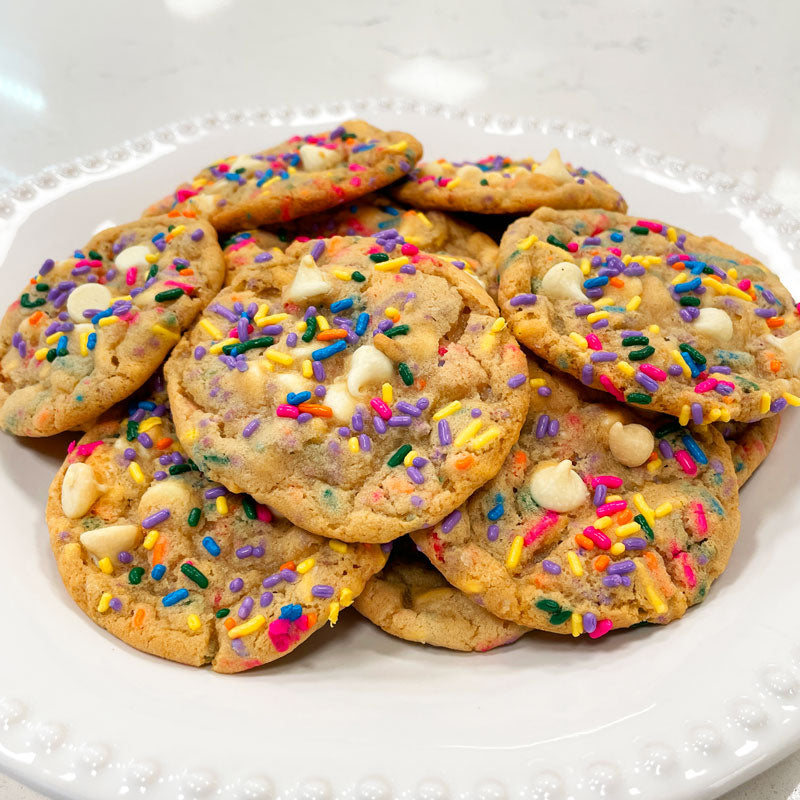
M167 363L181 442L313 533L386 542L438 522L525 418L525 357L496 306L392 230L286 259L242 271Z

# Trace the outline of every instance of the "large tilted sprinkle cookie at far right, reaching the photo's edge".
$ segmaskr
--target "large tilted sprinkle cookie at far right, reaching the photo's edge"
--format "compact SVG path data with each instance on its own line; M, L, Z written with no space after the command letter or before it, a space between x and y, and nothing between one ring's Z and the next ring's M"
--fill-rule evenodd
M780 280L713 237L541 209L500 245L500 305L537 355L685 424L800 404L800 318Z

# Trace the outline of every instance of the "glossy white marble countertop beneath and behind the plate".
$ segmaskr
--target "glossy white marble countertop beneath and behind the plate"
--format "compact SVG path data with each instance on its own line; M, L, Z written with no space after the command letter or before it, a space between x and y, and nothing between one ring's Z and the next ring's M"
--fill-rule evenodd
M589 122L800 218L799 24L796 0L6 2L0 190L210 110L399 96ZM725 800L798 782L794 755ZM0 797L41 795L0 775Z

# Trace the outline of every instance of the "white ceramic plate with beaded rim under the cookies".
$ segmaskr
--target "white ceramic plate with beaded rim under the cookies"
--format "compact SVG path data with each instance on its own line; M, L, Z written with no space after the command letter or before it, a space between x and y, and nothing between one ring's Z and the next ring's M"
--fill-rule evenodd
M0 303L221 155L353 113L429 157L565 157L634 212L763 258L795 296L798 225L731 178L588 127L400 102L212 115L45 171L0 196ZM398 116L398 115L402 115ZM0 768L60 796L502 800L710 798L800 745L796 412L742 497L708 601L663 629L593 642L530 635L486 655L392 639L344 615L294 655L220 676L142 655L67 597L44 523L68 437L0 436Z

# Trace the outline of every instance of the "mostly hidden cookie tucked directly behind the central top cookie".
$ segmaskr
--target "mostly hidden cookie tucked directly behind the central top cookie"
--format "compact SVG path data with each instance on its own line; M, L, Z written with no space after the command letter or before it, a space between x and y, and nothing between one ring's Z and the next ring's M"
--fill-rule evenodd
M227 282L232 281L233 274L242 266L268 261L262 251L273 253L276 247L285 249L294 239L374 236L388 228L394 228L403 242L446 258L453 266L476 278L492 299L497 300L498 247L489 236L449 214L441 211L425 214L398 207L381 195L370 195L358 203L303 217L276 228L275 232L257 229L234 236L225 247Z

